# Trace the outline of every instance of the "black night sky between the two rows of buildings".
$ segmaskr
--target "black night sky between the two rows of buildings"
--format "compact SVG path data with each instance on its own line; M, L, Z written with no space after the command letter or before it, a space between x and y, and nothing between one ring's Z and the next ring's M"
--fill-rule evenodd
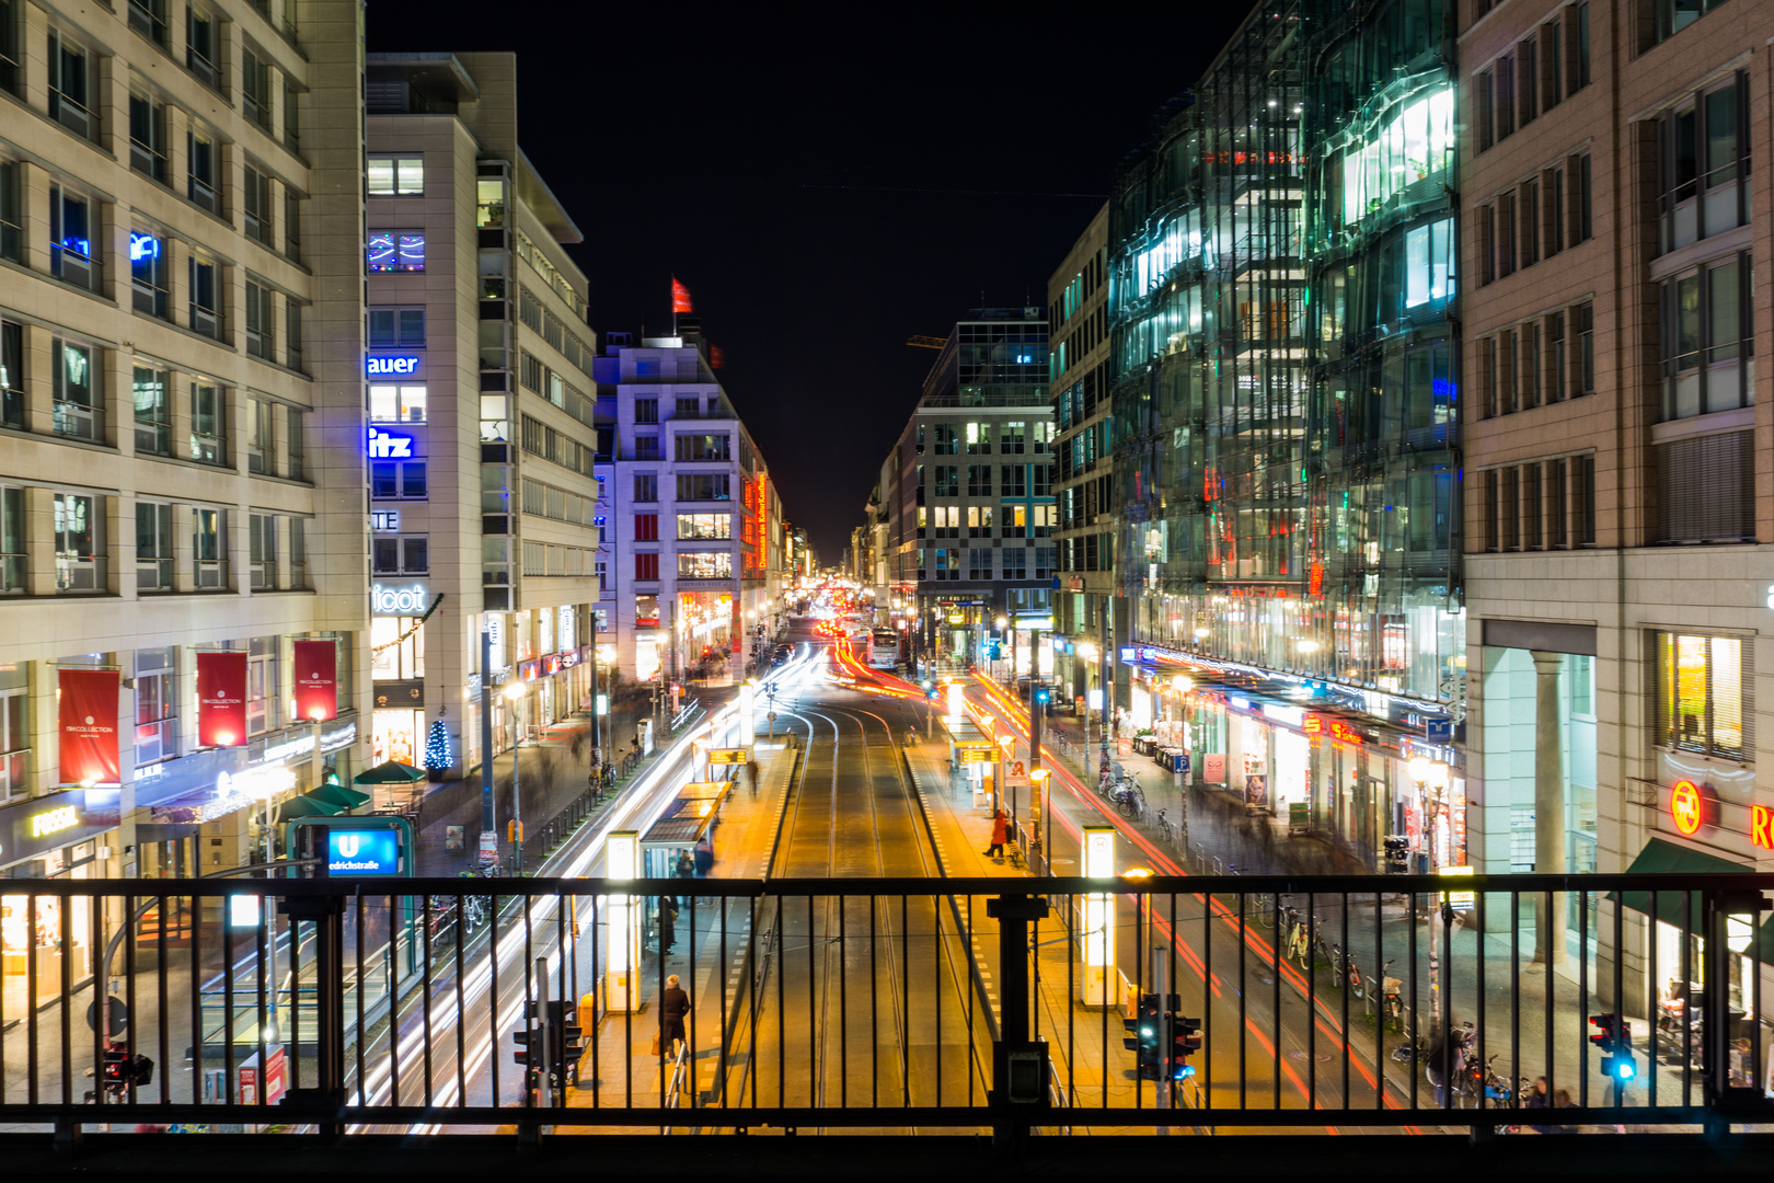
M836 564L937 356L907 337L1045 305L1116 161L1249 9L369 0L367 20L371 51L516 50L518 138L585 234L591 326L669 333L678 275L784 516Z

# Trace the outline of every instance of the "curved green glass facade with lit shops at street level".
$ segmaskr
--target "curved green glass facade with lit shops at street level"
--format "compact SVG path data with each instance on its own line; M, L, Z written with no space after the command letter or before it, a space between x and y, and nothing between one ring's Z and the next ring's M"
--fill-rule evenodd
M1111 199L1123 734L1370 866L1464 844L1451 30L1260 7Z

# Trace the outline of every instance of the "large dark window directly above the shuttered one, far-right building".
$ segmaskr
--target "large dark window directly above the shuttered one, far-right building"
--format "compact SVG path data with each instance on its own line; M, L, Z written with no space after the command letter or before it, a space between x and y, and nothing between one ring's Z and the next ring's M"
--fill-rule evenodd
M1749 255L1731 255L1662 286L1664 419L1749 406L1753 296Z

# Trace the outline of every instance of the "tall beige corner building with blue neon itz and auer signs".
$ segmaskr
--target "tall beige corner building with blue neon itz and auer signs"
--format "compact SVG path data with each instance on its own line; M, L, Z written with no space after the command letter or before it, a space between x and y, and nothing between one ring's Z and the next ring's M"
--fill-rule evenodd
M518 137L513 53L373 53L364 367L378 759L461 775L580 709L600 599L582 241ZM483 669L483 631L491 639Z

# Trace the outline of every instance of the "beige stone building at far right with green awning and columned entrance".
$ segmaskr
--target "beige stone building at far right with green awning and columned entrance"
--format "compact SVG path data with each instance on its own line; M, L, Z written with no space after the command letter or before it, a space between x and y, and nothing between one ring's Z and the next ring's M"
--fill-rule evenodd
M1769 869L1770 197L1751 160L1774 9L1460 16L1471 862ZM1643 906L1629 1006L1680 952L1680 921ZM1579 917L1554 921L1574 940Z

